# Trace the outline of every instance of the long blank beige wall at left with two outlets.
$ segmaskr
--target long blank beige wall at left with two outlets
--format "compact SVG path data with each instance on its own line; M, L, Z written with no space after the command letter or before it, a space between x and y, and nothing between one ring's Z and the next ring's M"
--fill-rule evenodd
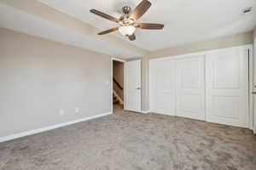
M110 64L106 54L0 28L0 137L110 112Z

